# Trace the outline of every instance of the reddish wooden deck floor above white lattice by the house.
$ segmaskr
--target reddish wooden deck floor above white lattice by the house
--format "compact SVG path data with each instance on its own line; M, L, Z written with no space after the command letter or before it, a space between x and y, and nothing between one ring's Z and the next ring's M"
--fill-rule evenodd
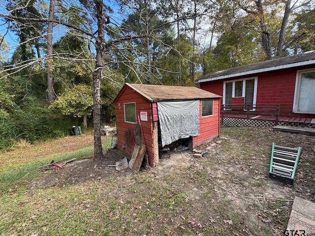
M246 114L224 114L224 117L229 118L247 118L248 115ZM255 116L249 115L250 119L257 119L257 120L270 120L275 121L275 116ZM298 117L279 117L278 122L290 122L290 123L299 123L299 124L315 124L315 118L298 118Z

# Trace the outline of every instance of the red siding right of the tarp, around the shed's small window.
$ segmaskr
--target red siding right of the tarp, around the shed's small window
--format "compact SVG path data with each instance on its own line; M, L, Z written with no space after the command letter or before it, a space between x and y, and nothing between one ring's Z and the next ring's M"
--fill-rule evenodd
M201 116L201 100L199 100L199 135L192 137L192 148L208 143L219 136L220 132L220 99L213 99L213 115Z

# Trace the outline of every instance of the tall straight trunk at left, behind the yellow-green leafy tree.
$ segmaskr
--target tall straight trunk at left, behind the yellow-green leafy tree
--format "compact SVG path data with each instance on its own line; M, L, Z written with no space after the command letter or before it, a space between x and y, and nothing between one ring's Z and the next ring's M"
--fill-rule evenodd
M48 92L48 102L53 103L55 101L55 91L54 91L54 79L53 79L53 28L55 14L55 0L50 0L49 5L49 16L48 16L48 28L47 28L47 92Z

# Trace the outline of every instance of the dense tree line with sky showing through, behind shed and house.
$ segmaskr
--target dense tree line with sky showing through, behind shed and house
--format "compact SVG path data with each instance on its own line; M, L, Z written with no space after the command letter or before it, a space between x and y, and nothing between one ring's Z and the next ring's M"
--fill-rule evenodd
M124 83L192 86L315 45L311 0L7 0L0 9L0 148L94 124L101 157L100 124L114 120Z

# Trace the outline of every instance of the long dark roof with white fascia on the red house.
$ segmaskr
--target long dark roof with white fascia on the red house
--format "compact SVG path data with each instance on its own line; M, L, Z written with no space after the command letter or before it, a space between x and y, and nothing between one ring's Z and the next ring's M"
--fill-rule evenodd
M298 67L303 65L315 65L315 51L305 52L297 55L292 55L283 58L277 58L272 60L266 60L257 62L250 65L243 65L233 67L221 71L208 73L199 79L195 80L195 83L202 83L214 80L228 79L237 76L252 75L261 72L280 70L285 68Z

